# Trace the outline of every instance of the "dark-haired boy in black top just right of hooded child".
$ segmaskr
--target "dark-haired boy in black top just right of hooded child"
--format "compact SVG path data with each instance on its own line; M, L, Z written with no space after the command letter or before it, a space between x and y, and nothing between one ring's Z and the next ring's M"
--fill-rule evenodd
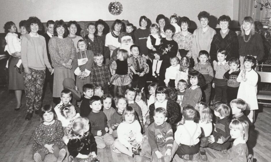
M91 108L89 107L89 102L91 97L94 95L94 86L91 84L85 84L83 86L84 97L82 99L82 103L80 105L80 116L87 117L91 112Z

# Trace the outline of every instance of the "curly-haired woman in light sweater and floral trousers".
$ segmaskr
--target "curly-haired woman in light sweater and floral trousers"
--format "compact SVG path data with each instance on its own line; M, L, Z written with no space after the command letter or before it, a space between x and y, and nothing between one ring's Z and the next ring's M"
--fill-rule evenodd
M21 57L22 65L25 68L24 86L25 86L25 105L27 115L25 120L30 120L33 111L38 114L42 105L43 84L45 81L45 68L53 73L49 63L45 38L37 32L42 30L42 23L37 17L30 17L27 28L31 31L22 36Z

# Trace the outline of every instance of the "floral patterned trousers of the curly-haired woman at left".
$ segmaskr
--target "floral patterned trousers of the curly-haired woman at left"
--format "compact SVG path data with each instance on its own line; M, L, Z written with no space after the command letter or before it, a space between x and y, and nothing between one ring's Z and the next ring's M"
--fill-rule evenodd
M45 81L45 70L29 68L30 74L24 74L25 105L27 113L33 113L42 105L43 84Z

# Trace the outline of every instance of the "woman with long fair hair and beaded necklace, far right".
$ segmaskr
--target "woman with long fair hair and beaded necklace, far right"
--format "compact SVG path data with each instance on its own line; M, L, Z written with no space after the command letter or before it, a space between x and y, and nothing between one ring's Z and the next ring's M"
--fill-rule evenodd
M244 17L241 25L242 33L238 36L240 70L244 69L244 58L247 55L255 57L257 62L264 57L264 45L261 35L255 32L254 20L250 17Z

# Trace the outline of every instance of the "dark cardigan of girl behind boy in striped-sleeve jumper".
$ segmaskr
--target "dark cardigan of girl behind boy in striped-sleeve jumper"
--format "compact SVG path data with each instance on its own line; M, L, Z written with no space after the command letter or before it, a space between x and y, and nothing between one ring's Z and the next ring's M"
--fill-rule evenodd
M150 110L150 123L154 122L154 110L158 108L155 107L154 103L150 105L149 110ZM176 119L178 119L179 115L180 115L180 109L178 106L178 103L176 103L176 101L171 101L168 100L167 102L167 111L168 111L168 120L166 122L168 122L171 126L176 122Z

